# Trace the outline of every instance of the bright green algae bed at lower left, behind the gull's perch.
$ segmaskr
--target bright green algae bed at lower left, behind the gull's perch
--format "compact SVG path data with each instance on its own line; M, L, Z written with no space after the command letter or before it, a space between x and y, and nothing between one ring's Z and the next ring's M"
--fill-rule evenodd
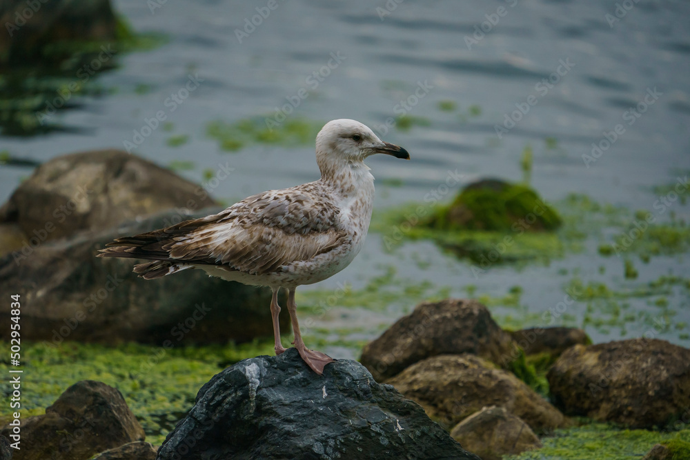
M287 337L284 339L288 341ZM8 343L4 343L9 348ZM165 349L135 343L110 347L65 342L22 343L22 417L43 414L77 381L102 381L120 390L154 445L165 439L178 419L194 405L199 388L232 363L273 354L273 340L235 345ZM8 363L0 363L7 372ZM9 406L0 410L0 423Z

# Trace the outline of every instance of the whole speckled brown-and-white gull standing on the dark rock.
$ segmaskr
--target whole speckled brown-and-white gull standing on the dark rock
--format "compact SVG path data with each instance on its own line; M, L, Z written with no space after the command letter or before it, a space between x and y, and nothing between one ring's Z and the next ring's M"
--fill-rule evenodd
M277 355L286 350L278 323L278 292L284 288L293 344L321 375L333 359L304 345L295 289L332 277L362 249L374 199L374 177L364 160L376 153L410 159L407 150L382 141L359 121L329 121L316 137L318 181L268 190L218 214L118 238L97 257L148 259L134 267L144 279L198 268L228 281L270 287Z

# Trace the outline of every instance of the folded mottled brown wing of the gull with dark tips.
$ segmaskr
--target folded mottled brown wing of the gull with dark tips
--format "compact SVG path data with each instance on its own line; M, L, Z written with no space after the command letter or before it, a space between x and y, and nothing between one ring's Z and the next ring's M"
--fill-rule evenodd
M108 243L111 247L99 257L222 265L248 274L268 274L331 251L346 238L339 228L337 206L316 193L312 183L269 190L219 214L119 238ZM145 265L161 269L161 264Z

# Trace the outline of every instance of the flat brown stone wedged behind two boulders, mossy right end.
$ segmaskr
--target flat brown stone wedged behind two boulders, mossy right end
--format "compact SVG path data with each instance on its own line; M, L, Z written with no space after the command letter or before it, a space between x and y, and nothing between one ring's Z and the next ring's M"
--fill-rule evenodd
M573 345L592 343L586 332L578 328L529 328L510 334L525 354L548 353L554 358Z

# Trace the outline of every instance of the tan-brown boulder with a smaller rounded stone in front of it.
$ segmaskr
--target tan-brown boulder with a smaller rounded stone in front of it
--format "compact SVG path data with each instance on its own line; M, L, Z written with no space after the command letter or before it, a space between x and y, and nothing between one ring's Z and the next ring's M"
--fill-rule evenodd
M449 430L484 406L506 408L535 432L569 425L558 409L511 372L472 354L424 359L388 383Z

